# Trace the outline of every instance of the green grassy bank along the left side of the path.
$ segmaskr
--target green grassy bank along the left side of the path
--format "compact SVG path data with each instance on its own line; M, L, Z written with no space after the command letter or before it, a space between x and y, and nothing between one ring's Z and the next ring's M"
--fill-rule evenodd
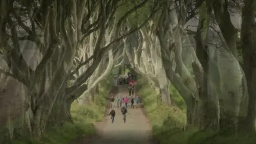
M93 122L101 121L105 113L106 97L109 92L100 89L95 102L86 106L79 106L75 101L71 107L74 124L65 123L63 126L47 127L45 137L41 141L19 138L12 144L65 144L81 136L90 137L96 134Z

